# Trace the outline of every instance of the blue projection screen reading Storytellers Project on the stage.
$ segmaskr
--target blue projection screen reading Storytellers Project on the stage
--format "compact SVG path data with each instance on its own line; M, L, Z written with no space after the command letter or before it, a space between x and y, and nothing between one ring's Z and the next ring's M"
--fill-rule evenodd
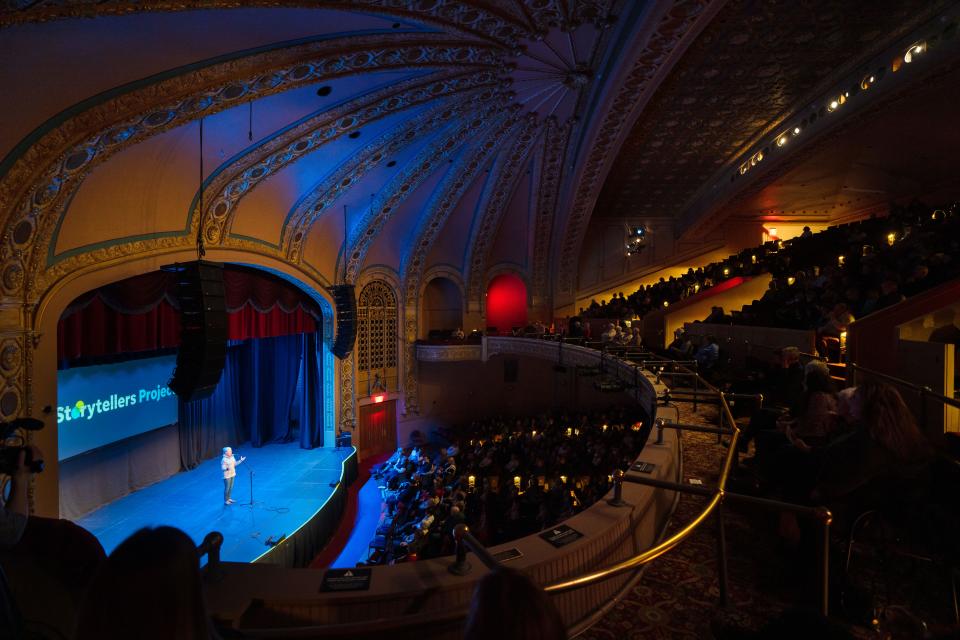
M57 372L59 459L177 421L176 356Z

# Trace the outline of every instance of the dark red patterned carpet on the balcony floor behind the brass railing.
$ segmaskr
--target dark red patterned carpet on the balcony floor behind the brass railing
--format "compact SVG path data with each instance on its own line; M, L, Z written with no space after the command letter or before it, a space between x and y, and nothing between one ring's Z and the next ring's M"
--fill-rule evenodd
M691 405L685 404L680 407L680 413L681 422L716 425L716 407L701 406L698 412L693 412ZM709 434L684 432L682 439L684 481L699 478L705 486L715 485L724 447ZM728 488L736 490L735 487ZM705 503L706 499L698 496L685 494L681 497L669 531L672 533L690 522L703 510ZM728 505L724 508L728 607L719 605L717 529L715 518L711 518L679 547L649 565L631 593L601 622L579 637L587 640L755 638L759 636L753 632L780 618L786 611L815 610L815 554L802 548L788 552L783 547L776 534L776 514L755 507ZM832 564L838 565L836 559ZM948 584L932 577L921 577L920 582L940 593L943 585ZM917 582L911 580L911 584ZM936 587L932 586L934 584ZM949 593L949 586L946 591ZM895 594L892 601L908 599L909 595ZM838 593L833 596L836 599ZM939 606L941 604L938 603L937 609L942 618L949 608ZM885 633L878 634L870 628L871 616L864 613L869 611L869 606L859 607L859 613L850 613L856 609L852 606L845 609L836 604L831 606L834 609L829 628L801 630L790 620L785 622L786 632L781 629L762 637L923 637L913 618L885 621L882 625ZM895 610L896 607L891 608L890 618L895 616ZM804 615L800 614L799 619L803 621ZM930 617L926 619L931 620Z

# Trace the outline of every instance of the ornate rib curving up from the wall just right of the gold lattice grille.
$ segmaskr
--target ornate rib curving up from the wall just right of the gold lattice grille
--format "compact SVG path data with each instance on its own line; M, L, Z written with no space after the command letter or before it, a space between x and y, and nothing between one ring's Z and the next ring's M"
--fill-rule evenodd
M419 388L417 385L417 358L416 342L419 333L418 311L420 306L420 284L424 269L424 259L433 246L433 241L440 233L443 222L456 208L463 194L469 188L480 169L493 156L498 145L508 134L520 133L519 127L531 128L535 126L535 118L519 120L519 106L510 109L512 113L504 113L496 124L489 128L487 135L474 143L470 149L460 156L454 166L447 172L446 177L436 189L436 195L427 206L428 216L422 220L415 242L409 254L401 260L400 278L404 288L404 407L406 413L417 415L420 413Z

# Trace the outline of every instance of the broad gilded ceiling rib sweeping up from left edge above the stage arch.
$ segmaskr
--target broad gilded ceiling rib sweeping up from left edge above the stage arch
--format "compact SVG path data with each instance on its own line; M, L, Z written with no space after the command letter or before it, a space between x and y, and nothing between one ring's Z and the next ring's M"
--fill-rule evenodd
M14 212L0 244L4 293L17 295L27 282L28 295L33 297L88 260L78 256L48 265L51 237L83 179L122 149L235 106L242 103L241 98L249 101L318 79L365 70L492 65L497 60L493 50L482 46L435 46L429 41L411 41L403 34L396 37L399 41L393 47L358 37L209 66L109 99L48 132L0 179L0 211ZM298 60L289 59L297 53L301 56ZM277 62L284 66L278 67ZM91 135L91 130L96 133ZM137 242L130 250L136 253L151 246L152 241Z

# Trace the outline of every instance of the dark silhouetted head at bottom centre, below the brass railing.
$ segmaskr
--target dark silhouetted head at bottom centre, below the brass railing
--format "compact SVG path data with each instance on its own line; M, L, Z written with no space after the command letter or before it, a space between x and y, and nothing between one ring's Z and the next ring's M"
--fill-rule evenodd
M512 569L488 573L473 592L464 640L565 640L560 613L543 589Z

